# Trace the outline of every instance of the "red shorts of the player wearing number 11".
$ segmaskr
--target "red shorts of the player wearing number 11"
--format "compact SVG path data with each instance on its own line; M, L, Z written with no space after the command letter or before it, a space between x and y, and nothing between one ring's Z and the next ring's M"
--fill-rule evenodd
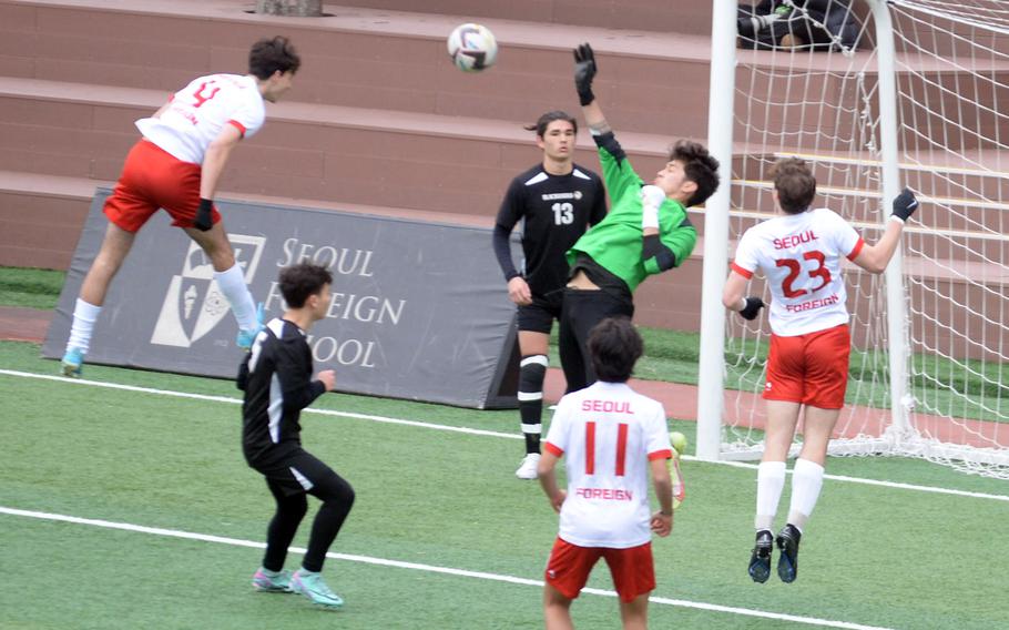
M652 562L652 543L645 542L629 549L608 547L579 547L560 538L553 543L544 573L547 583L568 599L578 593L589 581L589 573L600 558L604 558L613 577L620 600L634 601L655 590L655 565Z

